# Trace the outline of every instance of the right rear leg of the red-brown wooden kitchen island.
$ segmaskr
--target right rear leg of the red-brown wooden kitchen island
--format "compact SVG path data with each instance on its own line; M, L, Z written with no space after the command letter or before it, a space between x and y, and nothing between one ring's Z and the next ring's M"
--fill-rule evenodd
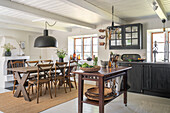
M124 81L124 104L127 106L127 72L123 76L123 81Z

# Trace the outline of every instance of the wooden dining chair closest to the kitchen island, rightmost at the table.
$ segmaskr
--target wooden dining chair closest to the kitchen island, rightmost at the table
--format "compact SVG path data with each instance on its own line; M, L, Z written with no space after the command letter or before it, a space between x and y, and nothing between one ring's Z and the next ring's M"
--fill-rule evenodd
M71 73L73 70L76 71L77 70L77 64L78 64L78 61L69 61L69 67L68 67L68 71L66 73L66 77L68 78L68 82L69 82L69 87L70 87L70 91L71 91L71 82L74 82L75 84L75 87L77 89L77 83L76 83L76 75ZM75 65L75 66L73 66ZM71 80L71 78L73 78L73 81Z

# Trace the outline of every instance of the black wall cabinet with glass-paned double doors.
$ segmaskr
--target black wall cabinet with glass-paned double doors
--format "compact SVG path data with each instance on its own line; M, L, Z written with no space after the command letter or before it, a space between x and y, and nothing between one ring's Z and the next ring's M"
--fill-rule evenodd
M109 42L110 49L142 49L142 24L115 26Z

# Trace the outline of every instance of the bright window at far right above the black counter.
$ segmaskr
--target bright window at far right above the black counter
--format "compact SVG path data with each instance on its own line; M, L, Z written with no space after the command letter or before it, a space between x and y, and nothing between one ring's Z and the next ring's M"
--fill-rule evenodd
M169 36L170 36L170 32L168 32L168 40L169 40ZM157 47L158 47L158 54L156 54L156 61L162 62L164 60L165 34L163 32L152 33L152 61L154 61L153 47L155 41L157 42Z

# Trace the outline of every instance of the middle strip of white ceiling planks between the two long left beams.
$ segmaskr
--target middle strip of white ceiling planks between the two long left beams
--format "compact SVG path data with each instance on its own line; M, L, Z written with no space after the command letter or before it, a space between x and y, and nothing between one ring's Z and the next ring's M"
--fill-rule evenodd
M67 0L12 0L41 10L60 14L62 16L81 20L91 24L100 24L105 21L101 16Z

